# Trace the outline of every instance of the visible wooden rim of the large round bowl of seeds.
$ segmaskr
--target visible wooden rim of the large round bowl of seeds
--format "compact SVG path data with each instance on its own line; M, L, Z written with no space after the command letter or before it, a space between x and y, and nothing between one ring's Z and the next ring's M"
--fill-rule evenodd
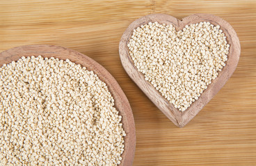
M106 71L103 66L95 62L93 59L90 59L90 57L61 46L29 45L11 48L10 50L0 53L0 66L12 61L17 61L22 56L28 57L32 55L35 57L41 55L42 57L58 57L59 59L64 60L70 59L70 61L76 64L81 64L81 66L86 66L88 70L94 71L98 75L99 79L107 84L109 91L115 99L115 108L119 111L120 116L122 116L122 126L127 133L127 136L125 136L125 151L121 156L122 160L120 165L132 165L136 145L134 116L132 114L129 101L115 78Z

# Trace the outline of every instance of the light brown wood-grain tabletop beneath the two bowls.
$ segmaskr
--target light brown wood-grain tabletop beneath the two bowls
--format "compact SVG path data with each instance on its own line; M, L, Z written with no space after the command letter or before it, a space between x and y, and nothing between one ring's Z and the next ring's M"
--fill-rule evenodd
M150 13L179 19L205 12L237 31L241 58L216 97L179 129L122 68L118 43L127 26ZM127 95L136 122L134 165L256 165L256 1L0 1L0 51L55 44L102 64Z

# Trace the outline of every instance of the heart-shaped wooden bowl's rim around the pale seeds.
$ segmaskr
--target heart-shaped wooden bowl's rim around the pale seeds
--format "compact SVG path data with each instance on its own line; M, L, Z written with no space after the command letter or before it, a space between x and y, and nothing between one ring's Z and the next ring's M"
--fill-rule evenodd
M154 86L150 82L145 81L143 73L138 72L134 62L129 55L129 48L127 44L133 33L133 30L138 28L138 26L148 24L149 22L159 22L159 24L173 24L176 30L182 30L184 26L190 24L196 24L202 21L208 21L214 26L221 26L221 30L225 33L227 37L227 43L230 44L230 53L227 55L228 59L226 66L219 72L218 77L209 84L208 88L200 95L198 100L195 100L191 106L186 109L186 111L179 111L174 107L173 104L170 104L166 98L163 98L161 93L154 89ZM227 80L234 73L235 68L239 62L240 56L240 43L239 38L237 37L236 32L227 23L227 21L209 14L195 14L185 17L182 20L176 19L170 15L164 14L153 14L147 15L136 19L133 23L129 25L125 33L122 35L119 44L119 53L122 66L125 68L125 71L128 73L129 77L138 85L138 87L147 95L148 98L174 123L177 127L184 127L192 118L194 118L198 112L205 107L205 105L220 91L224 86Z

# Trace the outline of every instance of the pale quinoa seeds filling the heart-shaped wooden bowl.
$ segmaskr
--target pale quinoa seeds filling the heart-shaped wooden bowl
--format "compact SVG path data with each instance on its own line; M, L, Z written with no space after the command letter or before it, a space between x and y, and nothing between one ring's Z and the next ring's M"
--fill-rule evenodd
M178 32L148 23L134 29L127 44L139 72L164 98L185 111L221 71L230 45L220 26L200 22Z

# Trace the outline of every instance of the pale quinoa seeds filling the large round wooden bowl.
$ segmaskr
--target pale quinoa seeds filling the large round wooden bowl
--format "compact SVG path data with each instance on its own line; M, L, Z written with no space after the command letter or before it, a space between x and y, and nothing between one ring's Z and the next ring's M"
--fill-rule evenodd
M0 165L118 165L121 116L93 71L22 57L0 68Z

